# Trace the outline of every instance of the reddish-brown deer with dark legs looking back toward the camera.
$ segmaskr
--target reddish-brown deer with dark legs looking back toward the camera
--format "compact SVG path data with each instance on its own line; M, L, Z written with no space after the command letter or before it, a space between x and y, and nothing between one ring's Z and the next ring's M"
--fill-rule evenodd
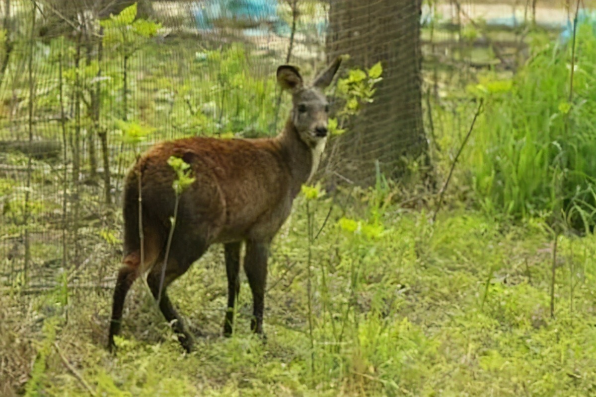
M235 300L240 292L241 243L246 244L244 271L253 294L251 329L263 333L263 298L268 248L290 214L291 205L315 173L327 140L329 105L322 90L330 85L342 58L337 58L310 86L299 71L282 65L277 81L291 92L292 110L283 131L274 138L215 139L190 137L159 143L136 161L126 178L124 258L114 289L108 347L120 330L126 293L135 279L147 274L151 293L178 340L191 351L193 338L167 296L167 286L184 274L213 243L224 244L228 276L228 311L224 335L232 333ZM171 157L191 165L193 184L179 197L168 260L166 241L175 205ZM141 181L139 183L139 179ZM139 236L141 186L144 261ZM162 271L164 278L162 280ZM163 283L160 285L160 283Z

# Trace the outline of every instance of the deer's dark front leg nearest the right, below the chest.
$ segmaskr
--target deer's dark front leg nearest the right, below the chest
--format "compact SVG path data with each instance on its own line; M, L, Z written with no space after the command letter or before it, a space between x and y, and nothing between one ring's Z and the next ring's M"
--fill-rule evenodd
M253 318L250 329L263 335L263 308L265 307L265 283L267 279L267 257L269 244L249 241L246 243L244 271L253 293Z

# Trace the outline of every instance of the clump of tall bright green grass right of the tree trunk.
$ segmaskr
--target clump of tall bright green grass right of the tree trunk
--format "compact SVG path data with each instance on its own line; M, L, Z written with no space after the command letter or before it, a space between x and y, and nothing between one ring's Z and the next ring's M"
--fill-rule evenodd
M481 205L493 213L542 216L563 211L572 227L594 225L596 37L579 29L573 92L572 46L538 43L513 77L480 79L485 98L462 161Z

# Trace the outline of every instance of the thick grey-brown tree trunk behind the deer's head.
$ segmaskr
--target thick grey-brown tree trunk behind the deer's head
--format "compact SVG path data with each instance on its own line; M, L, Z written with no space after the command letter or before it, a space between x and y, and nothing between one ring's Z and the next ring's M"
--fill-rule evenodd
M427 162L422 112L420 0L331 0L327 54L350 55L351 67L381 61L383 80L374 102L353 120L339 140L335 166L344 176L368 185L375 161L387 177L405 171L403 158ZM336 161L331 159L331 161Z

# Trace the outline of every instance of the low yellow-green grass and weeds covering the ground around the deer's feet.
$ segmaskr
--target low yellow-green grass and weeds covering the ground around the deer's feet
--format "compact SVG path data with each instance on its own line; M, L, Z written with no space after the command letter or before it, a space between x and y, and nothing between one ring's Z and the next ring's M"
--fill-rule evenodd
M309 201L310 211L316 209L315 229L328 205L329 199ZM336 208L311 248L313 349L306 203L300 198L272 252L266 345L249 333L245 281L235 336L219 336L226 282L217 247L172 287L172 299L191 329L205 335L197 337L195 352L182 354L147 287L136 283L113 357L104 349L111 290L59 286L35 299L29 312L10 317L20 326L3 326L20 343L39 340L36 362L45 364L34 366L27 390L88 395L48 342L55 333L64 358L97 395L106 396L585 396L596 391L594 237L560 237L551 318L552 241L541 221L511 226L479 212L452 211L432 225L424 211L389 206L375 223L379 212L361 208L360 215ZM2 304L12 299L18 298L4 295ZM45 332L39 318L45 318Z

